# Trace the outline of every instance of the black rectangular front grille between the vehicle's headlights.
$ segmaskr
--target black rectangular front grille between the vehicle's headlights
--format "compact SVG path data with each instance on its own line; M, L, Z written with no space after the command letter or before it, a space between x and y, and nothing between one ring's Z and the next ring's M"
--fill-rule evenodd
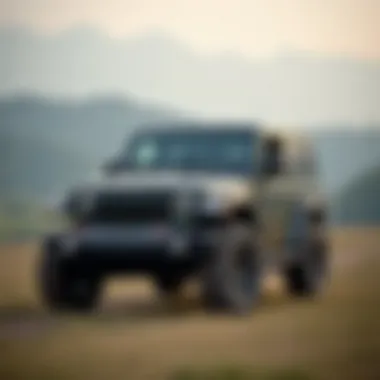
M104 192L96 197L92 223L149 223L169 221L173 195L169 192Z

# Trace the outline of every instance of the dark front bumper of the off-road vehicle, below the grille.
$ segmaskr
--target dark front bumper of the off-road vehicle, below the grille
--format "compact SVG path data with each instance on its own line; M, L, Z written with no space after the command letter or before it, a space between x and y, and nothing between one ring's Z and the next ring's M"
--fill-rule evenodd
M215 237L170 229L87 228L50 236L49 250L60 251L68 264L91 272L148 273L196 270L212 252Z

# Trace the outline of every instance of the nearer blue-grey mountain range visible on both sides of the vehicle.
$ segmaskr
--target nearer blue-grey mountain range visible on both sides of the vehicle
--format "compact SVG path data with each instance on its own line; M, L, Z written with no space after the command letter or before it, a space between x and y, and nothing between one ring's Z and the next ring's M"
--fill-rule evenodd
M103 96L82 102L4 98L0 100L0 201L56 202L66 189L116 154L140 124L185 117L130 98ZM369 172L380 167L380 130L322 129L310 137L332 200L333 220L365 223L369 218L380 223L379 192L368 188L376 189L373 184L380 181L378 169ZM369 177L364 180L366 172ZM368 192L372 195L367 197ZM361 203L362 212L347 211L359 210ZM372 214L364 211L366 207Z

